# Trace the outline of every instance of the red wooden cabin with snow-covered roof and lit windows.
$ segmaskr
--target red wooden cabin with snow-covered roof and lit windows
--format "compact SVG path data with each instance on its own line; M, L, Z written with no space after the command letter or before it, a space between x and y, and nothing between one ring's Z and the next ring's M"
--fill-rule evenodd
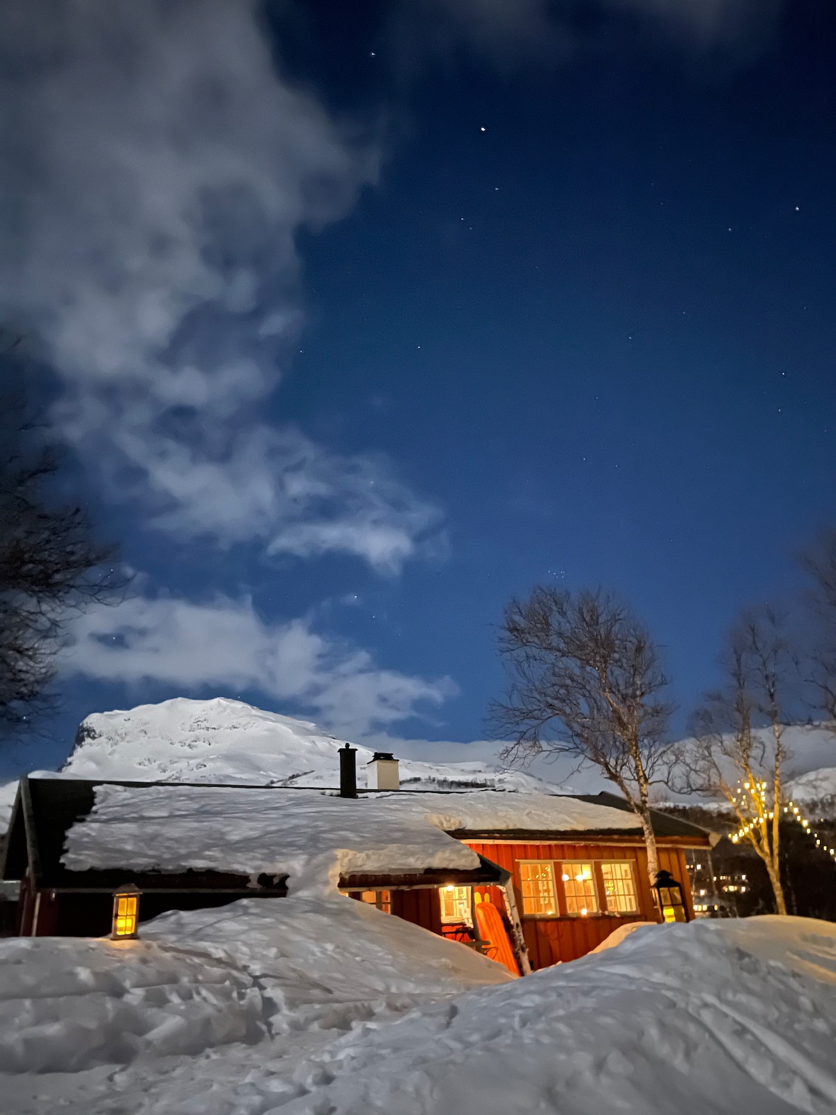
M124 807L110 806L108 825L101 803L115 793ZM149 794L156 812L146 813ZM174 841L173 851L169 818L153 820L161 802L177 798L188 811L207 795L215 812L204 816L196 805L184 830L197 832L198 843ZM231 846L225 818L249 817L251 805L261 843L242 853L240 842ZM681 883L693 917L684 853L708 847L708 834L663 813L652 820L660 866ZM108 837L108 827L118 834L123 823L134 833L133 851ZM98 935L108 930L113 894L124 883L142 895L140 922L164 910L286 895L289 876L275 872L291 837L297 849L317 841L328 849L332 823L340 832L333 846L357 851L358 864L375 852L373 873L341 874L343 893L505 957L522 973L575 960L625 923L657 920L641 828L611 794L361 791L346 801L333 791L288 787L23 779L0 874L22 880L18 932ZM89 832L95 854L80 870L66 856ZM485 902L490 908L480 912Z

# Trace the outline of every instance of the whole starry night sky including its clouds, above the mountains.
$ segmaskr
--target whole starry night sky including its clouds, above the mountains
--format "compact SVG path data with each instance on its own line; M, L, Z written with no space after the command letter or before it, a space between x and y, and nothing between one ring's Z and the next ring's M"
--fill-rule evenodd
M26 74L9 80L36 105L37 159L20 144L11 155L38 163L12 185L41 207L6 237L2 300L33 322L56 429L136 571L130 599L79 628L36 765L58 762L89 711L182 694L241 696L354 738L484 738L503 690L503 604L536 583L621 592L664 648L681 728L737 609L796 592L794 554L836 521L833 4L311 0L253 17L181 0L207 29L196 41L157 3L133 26L132 7L127 32L115 17L116 39L78 46L79 4L9 6L30 20L12 42ZM21 43L46 38L56 10L66 54L47 64ZM246 133L224 115L256 40L273 67L260 62L261 80L315 106L310 119L294 109L293 174L308 177L290 215L265 203L253 217L241 202L250 153L253 181L284 182L281 151L264 155L276 120ZM176 72L186 41L184 72L217 78L222 107L207 96L200 120L193 106L175 120L175 97L171 116L149 108L137 123L163 46ZM130 76L97 50L124 50ZM86 87L89 75L101 93L96 74L114 81L107 112ZM43 83L50 96L32 99ZM62 162L76 156L55 143L65 101L104 136L85 164L89 207ZM242 104L247 122L284 110L254 94ZM181 220L206 195L186 166L207 158L189 128L214 151L225 129L236 145L212 220ZM310 149L310 129L333 129L342 163ZM99 221L121 229L107 186L116 135L137 145L119 174L126 212L147 214L138 287L101 278L103 252L125 248L109 232L103 252L85 248ZM176 204L146 204L175 178ZM58 216L40 234L50 202ZM45 293L38 275L56 260L66 278ZM226 293L184 279L189 265L223 274ZM235 269L249 293L230 293ZM146 328L147 291L167 317ZM98 326L68 339L56 298L94 322L118 298L107 357ZM202 384L227 367L239 378L220 403L186 397L186 367ZM186 483L207 464L288 497L214 522L227 497L215 501L212 476Z

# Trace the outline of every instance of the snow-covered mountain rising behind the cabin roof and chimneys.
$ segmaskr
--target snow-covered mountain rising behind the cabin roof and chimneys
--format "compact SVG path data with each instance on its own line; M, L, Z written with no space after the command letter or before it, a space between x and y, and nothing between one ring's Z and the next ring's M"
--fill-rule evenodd
M76 778L339 785L344 740L315 724L217 697L177 697L125 711L96 712L81 723L61 774ZM372 752L357 748L358 785ZM548 783L487 763L400 762L401 786L449 789L496 786L548 792Z

